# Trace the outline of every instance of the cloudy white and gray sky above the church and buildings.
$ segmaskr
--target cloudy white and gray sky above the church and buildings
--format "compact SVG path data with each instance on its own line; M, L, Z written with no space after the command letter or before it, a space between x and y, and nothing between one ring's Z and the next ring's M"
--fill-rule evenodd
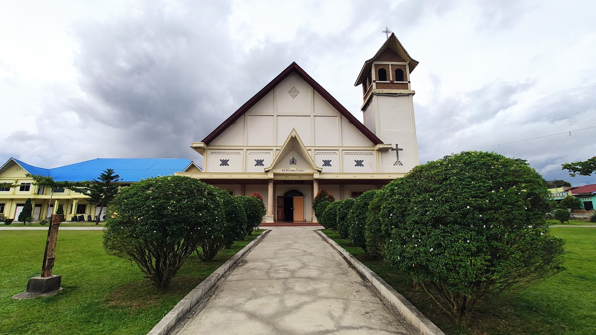
M594 1L2 1L0 159L187 157L296 61L362 119L389 26L412 73L422 162L596 126ZM574 185L596 128L485 148Z

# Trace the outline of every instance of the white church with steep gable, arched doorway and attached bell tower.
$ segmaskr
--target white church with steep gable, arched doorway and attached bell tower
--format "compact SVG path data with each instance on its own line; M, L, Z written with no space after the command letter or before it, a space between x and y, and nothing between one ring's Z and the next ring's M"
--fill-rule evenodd
M290 64L201 142L200 172L176 172L249 196L260 193L266 222L316 222L313 197L358 197L418 164L409 75L417 66L395 35L366 61L364 123L296 63Z

